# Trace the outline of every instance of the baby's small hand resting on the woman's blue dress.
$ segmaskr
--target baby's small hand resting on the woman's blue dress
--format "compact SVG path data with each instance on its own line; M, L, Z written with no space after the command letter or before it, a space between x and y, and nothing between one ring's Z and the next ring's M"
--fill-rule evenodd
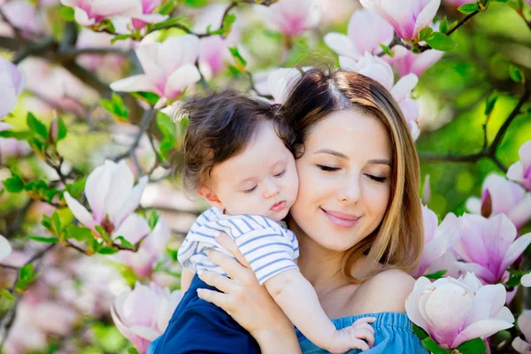
M351 349L369 350L374 345L374 328L369 323L375 320L374 317L362 317L352 323L352 326L336 331L334 342L328 351L344 353Z

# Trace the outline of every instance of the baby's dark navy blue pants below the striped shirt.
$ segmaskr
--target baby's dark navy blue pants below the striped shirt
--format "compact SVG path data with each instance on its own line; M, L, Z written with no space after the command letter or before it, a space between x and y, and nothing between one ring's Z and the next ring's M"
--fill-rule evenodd
M197 296L197 289L219 291L197 275L173 312L165 332L148 349L149 354L260 353L258 343L242 326L215 304Z

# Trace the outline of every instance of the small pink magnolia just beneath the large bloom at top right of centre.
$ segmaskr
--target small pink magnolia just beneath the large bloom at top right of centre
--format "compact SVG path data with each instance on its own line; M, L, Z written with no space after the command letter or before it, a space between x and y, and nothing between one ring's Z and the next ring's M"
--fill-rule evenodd
M441 50L426 50L422 53L415 54L401 45L393 47L394 57L385 56L384 59L392 65L401 75L414 73L420 76L427 68L434 65L439 59L443 58L444 52Z

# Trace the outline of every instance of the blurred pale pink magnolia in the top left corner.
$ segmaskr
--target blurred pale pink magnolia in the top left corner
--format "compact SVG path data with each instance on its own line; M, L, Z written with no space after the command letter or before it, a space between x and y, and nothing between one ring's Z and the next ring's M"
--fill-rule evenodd
M19 0L7 2L0 7L5 17L23 33L37 34L42 31L42 21L37 16L35 4Z

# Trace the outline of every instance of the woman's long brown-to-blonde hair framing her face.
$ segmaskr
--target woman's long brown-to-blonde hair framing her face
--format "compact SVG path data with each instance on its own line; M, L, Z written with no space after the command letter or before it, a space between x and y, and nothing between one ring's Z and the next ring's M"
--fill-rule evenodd
M299 156L312 128L328 113L356 110L380 119L391 142L391 196L388 209L371 235L347 250L342 273L349 281L366 281L382 269L410 272L418 265L424 247L419 199L419 158L403 113L389 91L376 81L342 70L303 74L283 105L284 117L296 132ZM352 273L354 263L366 256L366 269Z

